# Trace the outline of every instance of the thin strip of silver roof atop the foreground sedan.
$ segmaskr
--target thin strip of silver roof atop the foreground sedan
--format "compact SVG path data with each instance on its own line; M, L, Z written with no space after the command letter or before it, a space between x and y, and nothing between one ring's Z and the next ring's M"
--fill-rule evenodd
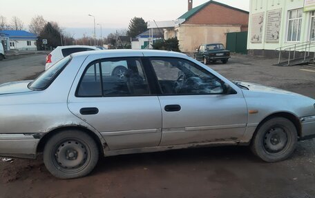
M171 52L164 50L95 50L86 52L76 52L71 57L82 56L103 56L103 57L187 57L187 55L180 52Z

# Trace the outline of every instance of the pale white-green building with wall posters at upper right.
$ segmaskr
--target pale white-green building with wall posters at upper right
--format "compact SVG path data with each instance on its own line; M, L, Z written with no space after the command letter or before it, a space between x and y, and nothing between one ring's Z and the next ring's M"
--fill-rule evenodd
M289 47L314 52L315 0L250 0L249 9L249 54L274 57Z

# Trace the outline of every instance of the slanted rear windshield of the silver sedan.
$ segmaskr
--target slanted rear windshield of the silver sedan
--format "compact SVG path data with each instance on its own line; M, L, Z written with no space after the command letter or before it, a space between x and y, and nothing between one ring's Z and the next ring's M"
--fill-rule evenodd
M66 67L70 62L71 57L65 57L61 59L53 66L51 66L46 72L42 73L37 79L32 81L28 88L31 90L44 90L50 86L50 83L60 74L60 72Z

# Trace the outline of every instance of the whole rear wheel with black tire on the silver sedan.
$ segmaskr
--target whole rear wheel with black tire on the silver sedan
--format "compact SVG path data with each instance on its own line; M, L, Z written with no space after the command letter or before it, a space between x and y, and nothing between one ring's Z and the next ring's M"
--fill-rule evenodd
M98 158L99 150L93 138L79 130L57 133L44 148L44 164L59 179L88 175L95 168Z

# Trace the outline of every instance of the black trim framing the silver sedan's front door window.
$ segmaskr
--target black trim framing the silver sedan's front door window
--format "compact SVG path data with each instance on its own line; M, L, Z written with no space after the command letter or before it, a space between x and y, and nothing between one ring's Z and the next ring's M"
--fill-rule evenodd
M193 61L191 61L189 59L184 59L184 58L181 58L181 57L156 57L156 56L148 57L149 63L150 63L150 66L151 66L151 70L153 70L153 75L155 77L155 81L158 83L158 89L159 89L158 96L193 96L193 95L195 95L195 96L199 96L200 95L201 96L201 95L237 95L238 94L238 91L235 90L234 88L232 88L231 86L229 86L229 87L233 90L233 92L231 92L229 94L226 94L224 92L222 92L220 94L218 94L218 93L209 93L209 94L201 94L201 93L200 94L195 94L195 93L192 93L192 94L164 94L162 92L162 88L161 88L160 83L158 81L158 76L156 75L155 70L153 68L153 65L151 63L151 59L158 59L158 58L160 58L160 59L180 59L180 60L187 61L187 62L191 63L192 65L196 66L196 68L198 68L198 69L201 68L202 72L205 72L206 74L213 75L213 77L216 77L216 79L218 79L220 81L220 83L226 83L225 81L223 81L222 79L220 79L219 77L214 75L212 72L209 72L208 70L202 68L202 66L199 66L198 64L194 63Z

